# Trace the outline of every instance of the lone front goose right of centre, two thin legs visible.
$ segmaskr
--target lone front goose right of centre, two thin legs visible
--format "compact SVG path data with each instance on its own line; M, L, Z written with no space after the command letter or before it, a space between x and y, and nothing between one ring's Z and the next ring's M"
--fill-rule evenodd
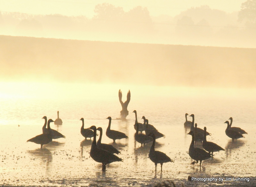
M155 150L156 136L155 136L154 133L150 133L148 136L153 138L153 143L152 143L152 146L150 147L148 157L152 162L155 163L155 171L156 171L156 166L157 166L158 163L160 163L161 171L162 171L163 163L165 163L165 162L174 162L174 161L169 156L164 154L163 152Z

